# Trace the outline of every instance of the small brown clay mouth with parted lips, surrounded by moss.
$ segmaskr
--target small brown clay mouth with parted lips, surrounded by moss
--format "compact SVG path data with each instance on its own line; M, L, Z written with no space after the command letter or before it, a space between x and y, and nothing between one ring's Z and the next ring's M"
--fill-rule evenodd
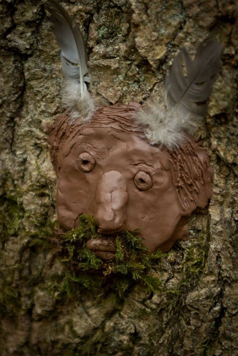
M116 247L112 240L92 239L87 241L86 246L104 261L112 261L115 258Z

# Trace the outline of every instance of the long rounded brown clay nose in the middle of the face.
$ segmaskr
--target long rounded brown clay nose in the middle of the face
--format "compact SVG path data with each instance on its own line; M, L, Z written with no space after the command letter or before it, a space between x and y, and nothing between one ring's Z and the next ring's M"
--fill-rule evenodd
M96 192L95 221L99 232L111 234L124 229L127 201L127 184L123 175L116 170L104 173Z

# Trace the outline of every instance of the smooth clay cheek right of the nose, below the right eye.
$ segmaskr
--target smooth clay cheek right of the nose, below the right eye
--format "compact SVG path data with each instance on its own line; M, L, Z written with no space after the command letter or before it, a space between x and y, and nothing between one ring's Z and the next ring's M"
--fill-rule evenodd
M127 225L140 229L149 250L168 241L180 219L179 205L170 171L157 171L153 188L147 192L129 190Z

